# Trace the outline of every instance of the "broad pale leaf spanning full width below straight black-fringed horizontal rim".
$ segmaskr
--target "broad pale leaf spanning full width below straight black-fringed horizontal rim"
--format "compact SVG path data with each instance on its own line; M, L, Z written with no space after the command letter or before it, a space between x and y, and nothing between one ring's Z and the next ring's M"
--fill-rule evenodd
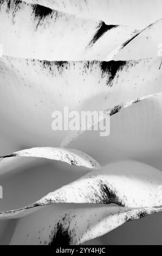
M60 145L66 131L51 129L51 114L63 112L64 106L69 112L104 111L161 92L161 58L47 62L2 57L0 66L1 136L10 138L12 131L16 150L22 144Z

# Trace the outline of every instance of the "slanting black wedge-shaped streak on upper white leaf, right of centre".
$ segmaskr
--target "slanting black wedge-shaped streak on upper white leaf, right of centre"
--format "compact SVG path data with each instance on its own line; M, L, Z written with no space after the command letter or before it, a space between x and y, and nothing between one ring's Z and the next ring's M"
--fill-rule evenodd
M118 27L118 25L106 25L105 22L101 21L100 25L98 26L98 31L95 33L93 39L89 42L87 47L92 47L103 34L115 27Z

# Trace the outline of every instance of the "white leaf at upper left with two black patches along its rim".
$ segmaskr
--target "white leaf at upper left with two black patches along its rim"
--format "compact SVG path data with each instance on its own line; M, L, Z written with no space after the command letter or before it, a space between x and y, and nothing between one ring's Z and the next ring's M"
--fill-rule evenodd
M8 56L102 59L133 33L132 28L108 26L103 21L77 18L22 1L2 0L0 7L0 42L3 55Z

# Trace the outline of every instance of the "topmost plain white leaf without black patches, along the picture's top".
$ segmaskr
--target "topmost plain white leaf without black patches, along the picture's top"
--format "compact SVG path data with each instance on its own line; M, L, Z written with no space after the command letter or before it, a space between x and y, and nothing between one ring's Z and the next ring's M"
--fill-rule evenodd
M25 2L42 4L79 17L103 20L108 24L129 24L137 29L160 19L162 7L160 0L25 0Z

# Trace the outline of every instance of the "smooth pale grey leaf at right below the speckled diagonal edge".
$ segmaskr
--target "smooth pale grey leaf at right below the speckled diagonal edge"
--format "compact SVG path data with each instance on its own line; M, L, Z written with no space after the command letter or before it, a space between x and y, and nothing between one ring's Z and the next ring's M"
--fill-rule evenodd
M135 159L161 169L161 94L148 97L118 113L119 109L116 108L116 114L111 116L108 137L100 137L100 131L86 131L73 141L73 148L86 149L86 153L100 161L101 166ZM98 147L94 147L94 141Z

